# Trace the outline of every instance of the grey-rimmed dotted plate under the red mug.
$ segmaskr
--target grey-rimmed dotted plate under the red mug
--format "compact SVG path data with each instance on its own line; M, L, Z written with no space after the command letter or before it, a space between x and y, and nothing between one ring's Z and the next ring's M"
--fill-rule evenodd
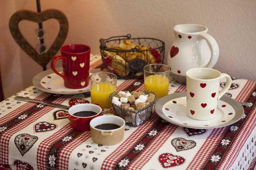
M62 68L56 68L60 73L62 72ZM44 92L55 93L55 94L78 94L84 93L90 90L90 85L81 89L69 89L64 86L63 79L55 74L52 69L45 70L39 74L37 74L33 78L33 84Z

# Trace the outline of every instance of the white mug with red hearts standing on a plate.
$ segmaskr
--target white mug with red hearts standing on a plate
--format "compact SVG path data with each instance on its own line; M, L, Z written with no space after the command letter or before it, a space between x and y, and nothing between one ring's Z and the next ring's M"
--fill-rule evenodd
M194 68L186 72L187 115L196 120L210 120L216 116L218 100L228 91L232 79L226 73L210 68ZM219 92L221 78L227 78Z

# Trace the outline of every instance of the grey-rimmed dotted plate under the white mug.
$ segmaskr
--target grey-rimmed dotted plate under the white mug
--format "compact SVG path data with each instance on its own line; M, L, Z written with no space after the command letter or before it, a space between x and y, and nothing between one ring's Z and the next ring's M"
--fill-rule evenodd
M167 122L194 129L213 129L228 126L240 120L244 115L244 108L236 100L226 96L221 97L218 101L215 118L207 121L188 117L186 105L186 92L177 92L156 101L155 111Z

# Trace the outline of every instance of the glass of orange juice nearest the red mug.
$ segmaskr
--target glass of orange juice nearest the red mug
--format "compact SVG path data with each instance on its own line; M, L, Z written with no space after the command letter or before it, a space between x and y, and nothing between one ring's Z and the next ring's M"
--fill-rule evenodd
M102 108L112 107L108 101L109 95L116 91L116 75L108 72L92 74L89 77L91 88L91 101L98 103Z

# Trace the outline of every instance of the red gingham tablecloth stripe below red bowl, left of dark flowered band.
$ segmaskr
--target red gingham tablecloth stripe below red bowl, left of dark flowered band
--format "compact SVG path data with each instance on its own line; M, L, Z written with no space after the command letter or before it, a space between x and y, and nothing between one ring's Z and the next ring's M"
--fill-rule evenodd
M52 136L44 139L40 143L37 149L36 162L38 170L48 169L48 152L51 149L52 144L56 143L61 138L65 137L73 129L70 127L69 123L61 128L58 132L54 133Z

